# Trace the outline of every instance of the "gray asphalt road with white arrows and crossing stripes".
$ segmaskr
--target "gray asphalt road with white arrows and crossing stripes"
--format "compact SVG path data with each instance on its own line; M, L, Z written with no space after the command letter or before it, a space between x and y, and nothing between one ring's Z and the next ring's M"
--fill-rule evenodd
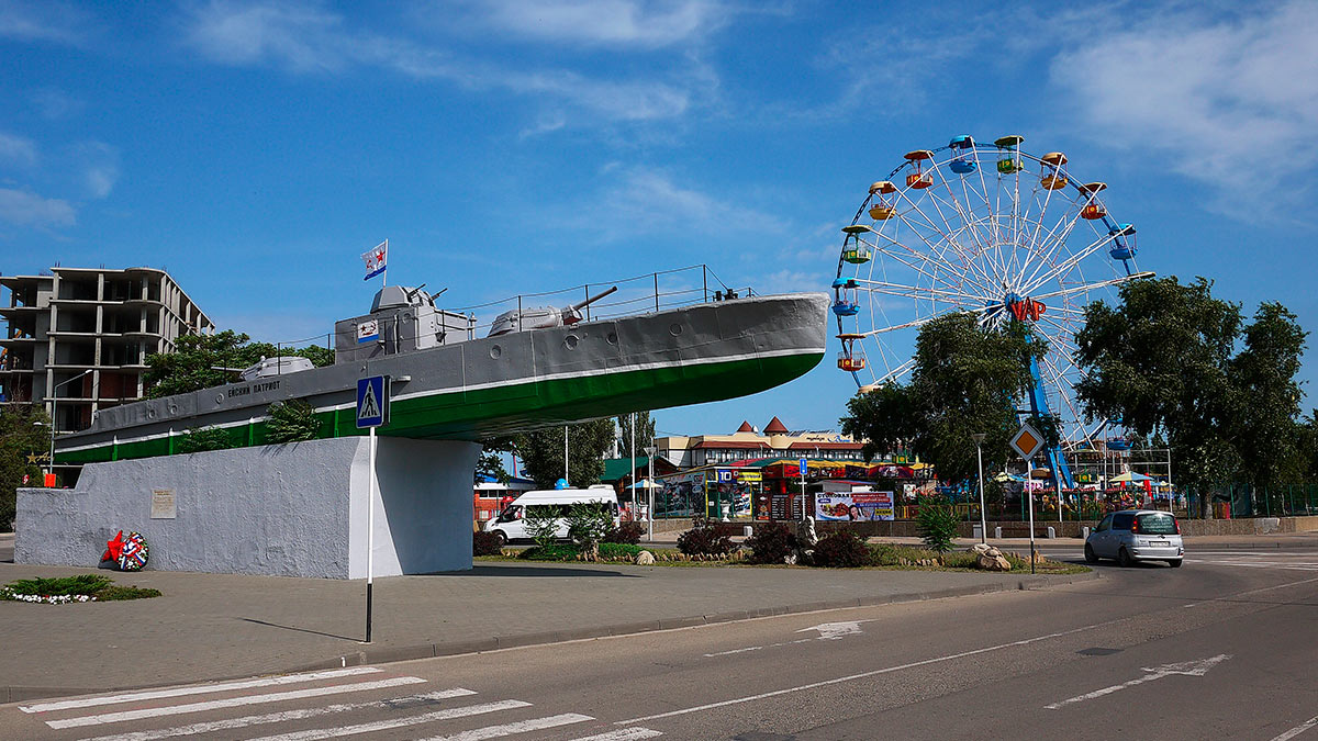
M1318 550L1101 570L1040 592L4 705L0 737L1318 740Z

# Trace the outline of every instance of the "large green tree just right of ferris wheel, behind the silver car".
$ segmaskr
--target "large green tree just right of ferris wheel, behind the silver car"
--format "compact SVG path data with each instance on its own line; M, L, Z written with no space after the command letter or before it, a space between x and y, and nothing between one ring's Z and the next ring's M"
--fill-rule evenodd
M1124 282L1120 303L1091 303L1075 335L1085 414L1161 435L1174 451L1173 480L1201 493L1239 465L1240 398L1230 365L1240 307L1211 289L1203 278Z

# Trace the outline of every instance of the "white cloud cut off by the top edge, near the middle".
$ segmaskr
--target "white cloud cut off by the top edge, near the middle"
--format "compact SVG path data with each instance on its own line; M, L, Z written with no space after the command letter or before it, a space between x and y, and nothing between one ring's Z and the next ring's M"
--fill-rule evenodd
M451 12L443 3L439 11ZM728 24L733 9L710 0L492 0L468 5L476 25L522 38L652 50L699 41Z

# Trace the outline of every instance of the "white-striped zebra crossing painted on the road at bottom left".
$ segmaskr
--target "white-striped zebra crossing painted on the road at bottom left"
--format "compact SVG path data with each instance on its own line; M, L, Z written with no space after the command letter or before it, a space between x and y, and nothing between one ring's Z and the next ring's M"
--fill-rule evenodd
M51 700L17 707L40 720L43 734L84 741L154 741L195 736L246 741L312 741L389 733L428 741L554 738L555 741L638 741L663 733L617 728L576 712L540 712L511 697L480 697L464 687L426 690L419 676L380 667L351 667L281 676L162 687L134 692ZM411 694L397 695L402 688ZM356 694L376 696L352 700ZM360 696L360 695L358 695ZM331 700L278 709L279 703ZM272 705L268 712L214 719ZM186 716L208 713L206 720ZM12 719L11 719L12 720ZM72 732L76 736L69 736Z

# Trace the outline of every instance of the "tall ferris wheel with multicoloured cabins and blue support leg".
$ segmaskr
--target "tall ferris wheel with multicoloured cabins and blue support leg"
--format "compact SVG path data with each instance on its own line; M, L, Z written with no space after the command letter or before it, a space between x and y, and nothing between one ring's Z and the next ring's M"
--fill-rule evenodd
M865 392L911 370L916 335L937 316L971 312L985 328L1021 322L1048 343L1031 364L1029 411L1057 415L1064 444L1077 444L1106 423L1086 427L1073 393L1085 306L1153 273L1136 264L1135 225L1099 198L1107 185L1075 179L1061 152L1021 152L1023 141L958 136L908 152L870 186L842 228L837 365ZM1060 450L1048 456L1058 485L1074 485Z

